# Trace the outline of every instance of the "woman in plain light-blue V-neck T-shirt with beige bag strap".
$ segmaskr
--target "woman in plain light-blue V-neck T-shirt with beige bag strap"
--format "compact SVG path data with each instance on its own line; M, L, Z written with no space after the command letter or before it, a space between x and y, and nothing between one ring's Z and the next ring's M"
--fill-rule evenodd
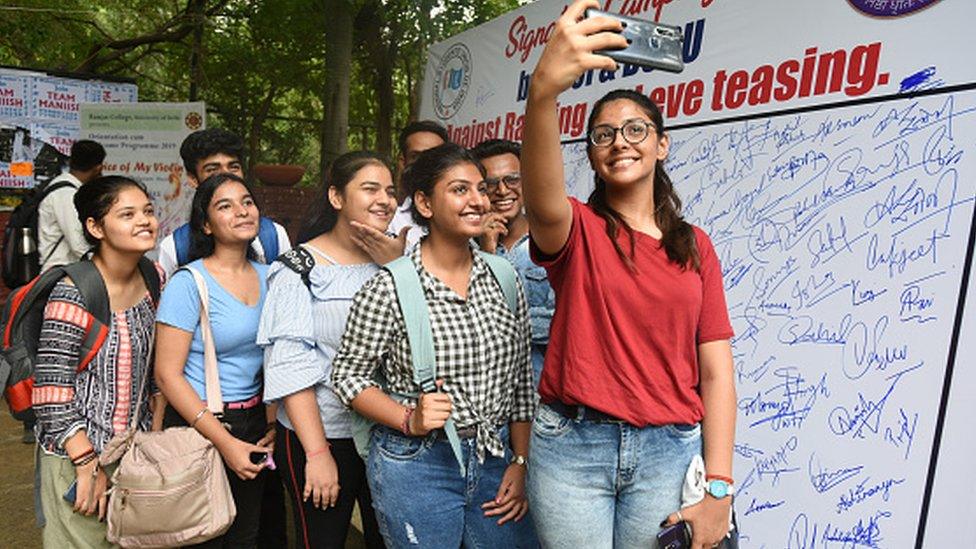
M209 293L221 418L204 403L200 293L192 273L173 275L157 315L156 383L168 402L163 426L190 425L214 444L237 506L230 529L204 547L256 546L266 461L252 458L272 452L274 445L274 424L268 425L261 399L264 356L255 344L268 270L251 256L258 215L250 188L234 174L207 178L193 197L190 263L184 269L199 272Z

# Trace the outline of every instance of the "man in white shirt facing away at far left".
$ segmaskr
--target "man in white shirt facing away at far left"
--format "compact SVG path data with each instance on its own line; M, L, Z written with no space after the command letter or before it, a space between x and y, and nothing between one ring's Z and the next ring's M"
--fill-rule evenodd
M48 187L67 181L50 192L37 207L37 249L41 258L41 272L58 265L81 259L88 251L85 233L75 209L78 187L102 175L105 148L95 141L82 139L71 146L68 171L47 184Z

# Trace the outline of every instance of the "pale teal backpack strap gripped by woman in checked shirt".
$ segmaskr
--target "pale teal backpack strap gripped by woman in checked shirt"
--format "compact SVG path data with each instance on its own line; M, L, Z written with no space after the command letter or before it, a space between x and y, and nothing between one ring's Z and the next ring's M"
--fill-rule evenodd
M413 380L424 393L437 392L437 358L434 354L434 337L430 328L430 313L427 308L427 298L420 284L420 275L410 256L402 256L383 266L393 275L393 285L396 288L397 301L403 322L407 326L407 341L410 343L410 354L413 359ZM444 423L444 434L451 444L454 457L461 468L461 475L465 474L464 457L461 454L461 439L457 434L454 420L447 419Z

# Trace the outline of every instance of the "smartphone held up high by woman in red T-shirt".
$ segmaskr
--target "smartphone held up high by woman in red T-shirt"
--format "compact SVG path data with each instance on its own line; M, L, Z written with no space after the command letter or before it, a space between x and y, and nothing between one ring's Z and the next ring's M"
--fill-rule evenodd
M587 18L609 17L624 24L621 34L627 39L627 47L622 50L602 50L595 53L606 55L620 63L641 67L653 67L668 72L685 70L681 53L684 33L681 27L594 9L586 10L585 16Z

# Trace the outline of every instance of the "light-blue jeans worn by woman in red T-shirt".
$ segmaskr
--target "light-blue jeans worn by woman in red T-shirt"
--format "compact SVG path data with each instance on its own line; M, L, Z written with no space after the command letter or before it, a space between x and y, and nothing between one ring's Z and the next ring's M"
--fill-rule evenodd
M543 547L656 547L680 508L701 453L700 425L637 428L569 419L540 404L529 446L528 494Z

